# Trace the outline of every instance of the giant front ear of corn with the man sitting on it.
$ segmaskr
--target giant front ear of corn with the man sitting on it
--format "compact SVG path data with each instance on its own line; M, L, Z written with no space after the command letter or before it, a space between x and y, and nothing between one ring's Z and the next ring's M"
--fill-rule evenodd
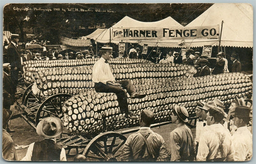
M149 81L150 82L150 81ZM237 97L252 96L252 82L243 73L224 73L205 77L176 77L158 79L157 83L136 84L143 99L128 97L129 109L139 116L143 109L154 112L155 123L171 120L174 105L183 105L190 116L195 114L196 102L218 98L226 107ZM63 105L67 116L67 129L73 133L95 134L102 132L104 125L110 130L138 126L138 121L129 121L120 113L115 94L96 93L94 90L74 95Z

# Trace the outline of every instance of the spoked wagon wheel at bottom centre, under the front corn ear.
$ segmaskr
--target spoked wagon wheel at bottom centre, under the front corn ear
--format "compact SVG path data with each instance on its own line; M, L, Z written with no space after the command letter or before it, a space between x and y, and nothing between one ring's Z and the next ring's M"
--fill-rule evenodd
M122 134L108 131L93 138L85 148L83 155L99 161L110 161L121 155L120 148L126 141Z

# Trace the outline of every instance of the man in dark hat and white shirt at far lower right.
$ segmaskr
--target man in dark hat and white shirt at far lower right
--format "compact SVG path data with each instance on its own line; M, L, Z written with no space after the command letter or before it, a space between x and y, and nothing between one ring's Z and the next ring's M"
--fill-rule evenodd
M232 135L234 161L250 161L253 156L253 136L248 130L251 109L247 106L236 106L231 112L237 130Z

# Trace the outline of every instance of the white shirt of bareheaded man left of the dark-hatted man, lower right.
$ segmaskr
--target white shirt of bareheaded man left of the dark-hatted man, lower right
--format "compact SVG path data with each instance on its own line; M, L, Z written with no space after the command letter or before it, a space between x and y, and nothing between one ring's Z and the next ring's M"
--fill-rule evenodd
M213 160L221 158L218 151L219 142L222 141L223 158L233 158L233 145L231 134L221 124L207 126L207 131L203 132L199 139L196 161Z

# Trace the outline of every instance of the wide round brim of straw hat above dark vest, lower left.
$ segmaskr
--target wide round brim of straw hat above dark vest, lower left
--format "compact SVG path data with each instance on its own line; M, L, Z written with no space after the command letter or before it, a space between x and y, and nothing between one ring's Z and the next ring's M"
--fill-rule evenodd
M63 131L63 123L61 121L61 119L57 118L57 117L51 117L52 119L54 119L55 123L56 123L56 126L57 126L57 131L54 135L46 135L44 132L43 132L43 123L44 123L44 120L45 119L48 119L49 117L46 117L44 119L42 119L38 124L37 124L37 134L40 135L40 136L43 136L45 138L54 138L54 137L57 137L59 136L62 131Z

